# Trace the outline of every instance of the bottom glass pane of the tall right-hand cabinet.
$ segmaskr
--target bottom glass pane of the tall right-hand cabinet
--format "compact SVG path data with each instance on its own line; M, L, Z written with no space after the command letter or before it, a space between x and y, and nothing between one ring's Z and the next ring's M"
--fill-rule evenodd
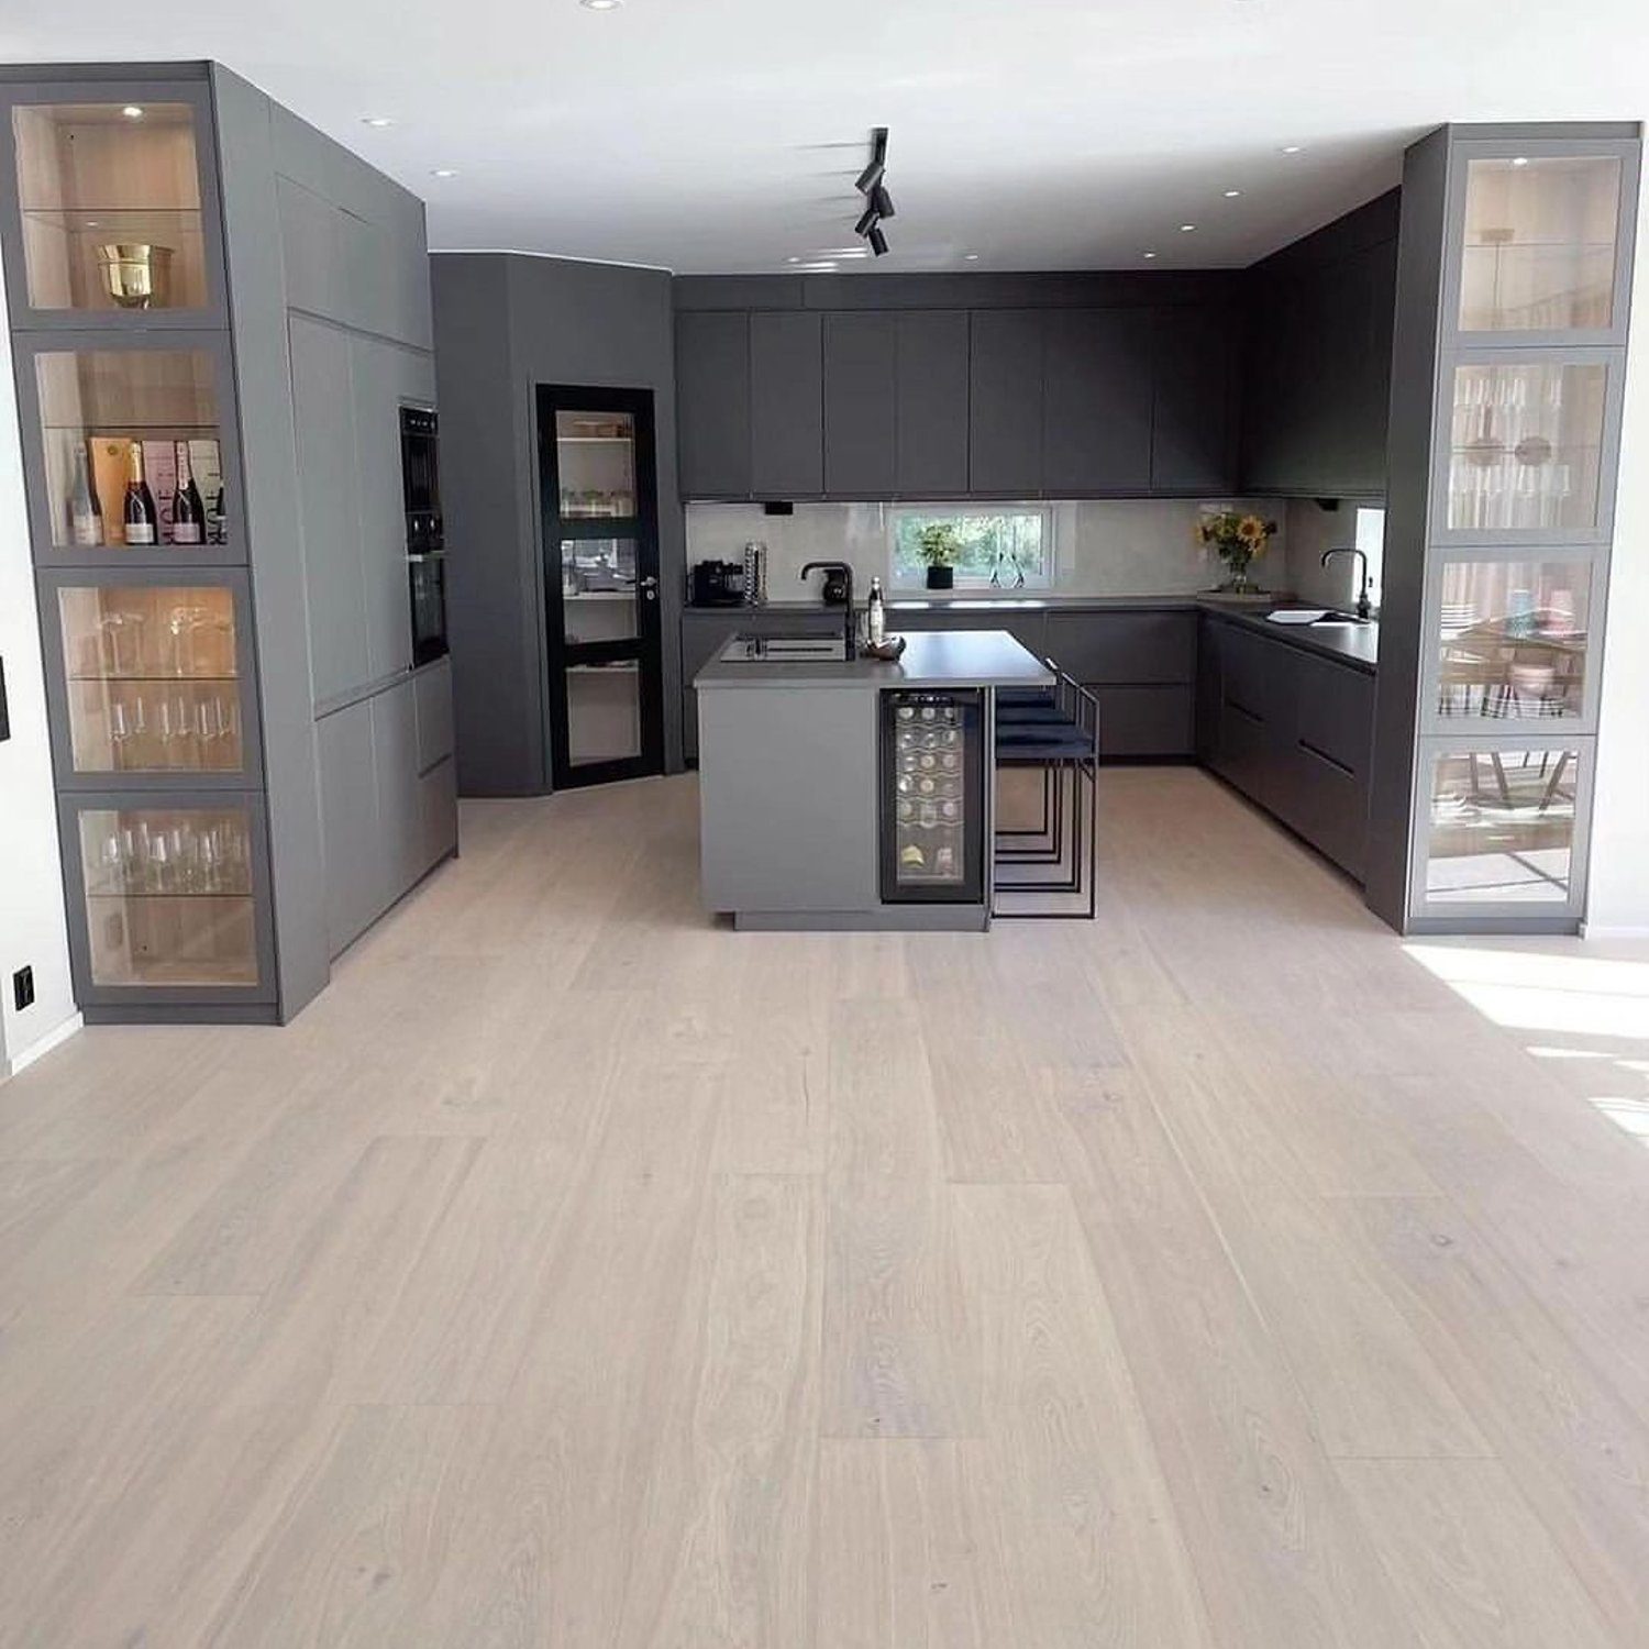
M1449 750L1431 767L1425 900L1563 905L1578 750Z

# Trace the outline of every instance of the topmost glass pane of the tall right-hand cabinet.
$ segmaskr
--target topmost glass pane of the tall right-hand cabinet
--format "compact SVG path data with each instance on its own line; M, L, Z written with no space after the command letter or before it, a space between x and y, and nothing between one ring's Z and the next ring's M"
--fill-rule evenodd
M1613 155L1469 162L1461 331L1611 327L1619 201Z

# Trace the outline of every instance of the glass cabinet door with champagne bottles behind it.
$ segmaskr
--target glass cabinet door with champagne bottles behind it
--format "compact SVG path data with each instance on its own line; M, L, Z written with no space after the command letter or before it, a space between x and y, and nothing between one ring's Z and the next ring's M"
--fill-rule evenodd
M218 350L41 350L33 366L45 543L228 559Z

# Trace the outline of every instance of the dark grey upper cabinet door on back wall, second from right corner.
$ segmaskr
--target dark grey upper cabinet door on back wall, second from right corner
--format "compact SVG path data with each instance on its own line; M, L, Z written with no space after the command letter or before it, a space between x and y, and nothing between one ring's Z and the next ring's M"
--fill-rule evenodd
M1146 308L1044 313L1042 493L1151 490L1151 356Z

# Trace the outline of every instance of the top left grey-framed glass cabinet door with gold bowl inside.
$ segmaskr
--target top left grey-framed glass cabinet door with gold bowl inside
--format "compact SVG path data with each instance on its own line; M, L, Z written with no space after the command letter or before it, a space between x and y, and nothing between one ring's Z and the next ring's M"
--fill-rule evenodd
M3 101L23 228L13 323L221 325L223 244L200 84L30 87Z

